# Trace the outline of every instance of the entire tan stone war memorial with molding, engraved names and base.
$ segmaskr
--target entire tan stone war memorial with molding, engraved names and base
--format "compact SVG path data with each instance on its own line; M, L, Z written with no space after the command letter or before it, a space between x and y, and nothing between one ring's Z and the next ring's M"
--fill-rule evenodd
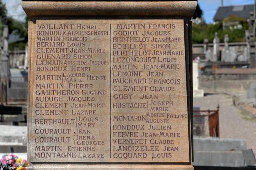
M193 170L196 5L22 1L29 166Z

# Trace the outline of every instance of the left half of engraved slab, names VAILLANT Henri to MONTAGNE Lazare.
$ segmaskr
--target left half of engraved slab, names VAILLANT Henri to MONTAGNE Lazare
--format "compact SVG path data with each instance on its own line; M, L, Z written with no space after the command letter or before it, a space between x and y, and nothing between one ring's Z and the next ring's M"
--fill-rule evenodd
M109 158L110 27L36 23L32 161Z

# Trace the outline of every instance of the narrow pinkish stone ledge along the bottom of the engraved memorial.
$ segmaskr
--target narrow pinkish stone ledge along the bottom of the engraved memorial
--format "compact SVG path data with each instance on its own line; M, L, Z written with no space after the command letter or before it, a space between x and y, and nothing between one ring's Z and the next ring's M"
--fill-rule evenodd
M33 164L29 166L45 166L58 169L83 169L83 170L194 170L192 165L156 165L156 164ZM59 168L58 168L59 167Z

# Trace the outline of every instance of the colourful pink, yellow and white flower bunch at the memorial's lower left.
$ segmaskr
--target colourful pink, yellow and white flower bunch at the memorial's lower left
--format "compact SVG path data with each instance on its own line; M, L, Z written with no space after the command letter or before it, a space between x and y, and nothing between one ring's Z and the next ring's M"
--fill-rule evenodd
M26 170L28 161L18 158L15 154L6 154L0 159L0 167L4 170Z

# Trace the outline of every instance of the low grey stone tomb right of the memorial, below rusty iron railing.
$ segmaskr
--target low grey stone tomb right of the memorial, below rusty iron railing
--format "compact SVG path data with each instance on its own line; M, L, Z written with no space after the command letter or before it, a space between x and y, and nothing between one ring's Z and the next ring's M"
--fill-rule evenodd
M244 166L242 150L246 141L241 139L220 139L194 137L194 166Z

